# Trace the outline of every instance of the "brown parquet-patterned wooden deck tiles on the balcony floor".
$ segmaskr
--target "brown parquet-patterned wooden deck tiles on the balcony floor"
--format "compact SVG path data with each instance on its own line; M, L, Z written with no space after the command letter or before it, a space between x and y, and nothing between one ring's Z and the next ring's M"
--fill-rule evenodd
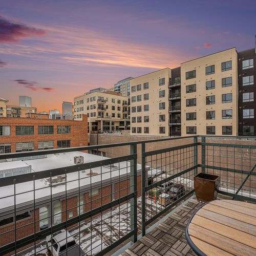
M196 255L187 244L184 232L189 218L202 205L196 198L191 198L121 255Z

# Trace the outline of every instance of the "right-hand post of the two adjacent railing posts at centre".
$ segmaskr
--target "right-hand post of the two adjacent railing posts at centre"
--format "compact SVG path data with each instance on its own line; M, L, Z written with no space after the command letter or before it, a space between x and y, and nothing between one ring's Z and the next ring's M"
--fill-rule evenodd
M146 234L145 186L147 175L145 172L145 143L141 143L141 221L142 236Z

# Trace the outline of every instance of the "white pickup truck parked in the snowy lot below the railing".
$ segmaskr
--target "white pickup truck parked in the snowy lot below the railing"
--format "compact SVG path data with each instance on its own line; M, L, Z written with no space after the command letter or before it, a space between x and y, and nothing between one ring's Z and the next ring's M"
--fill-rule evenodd
M46 244L48 250L54 256L59 255L84 255L84 251L76 243L75 239L71 236L69 231L61 229L54 233L52 236L46 237Z

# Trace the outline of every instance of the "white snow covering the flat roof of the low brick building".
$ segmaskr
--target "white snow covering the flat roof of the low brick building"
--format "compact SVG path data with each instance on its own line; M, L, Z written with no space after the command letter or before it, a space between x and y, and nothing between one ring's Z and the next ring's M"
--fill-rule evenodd
M60 153L60 154L51 154L48 155L47 158L39 158L32 160L24 160L23 162L27 165L32 166L32 172L41 172L42 170L54 169L60 167L67 167L74 164L75 156L83 156L84 163L95 162L104 159L109 159L107 157L101 157L97 155L87 154L83 152L70 152L70 153ZM11 164L15 164L15 162L10 162ZM1 165L2 163L0 163ZM114 179L115 177L119 177L121 175L125 175L130 173L130 162L120 162L115 164L118 166L117 169L112 169L110 173L110 168L108 167L96 167L92 168L93 173L98 173L99 175L88 176L90 173L90 169L81 170L79 172L74 172L67 174L67 191L71 189L76 189L79 186L88 186L95 187L94 183L100 183L101 181ZM141 165L137 164L137 170L141 170ZM79 177L79 181L78 181ZM64 183L65 184L65 183ZM35 180L35 199L42 199L44 197L50 196L51 191L52 195L58 193L65 193L66 185L58 185L58 186L49 186L49 183L46 180ZM16 184L16 205L27 203L29 201L34 200L34 191L33 191L33 181L28 181L24 183ZM22 193L22 194L20 194ZM19 195L18 195L19 194ZM14 185L0 187L0 211L6 207L13 206L14 204ZM5 197L5 198L3 198Z

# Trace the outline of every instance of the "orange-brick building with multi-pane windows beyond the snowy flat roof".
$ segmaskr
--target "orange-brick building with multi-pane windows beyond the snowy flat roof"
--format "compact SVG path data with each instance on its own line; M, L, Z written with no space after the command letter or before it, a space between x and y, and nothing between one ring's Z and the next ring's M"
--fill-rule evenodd
M2 117L0 154L87 145L87 116L81 120Z

